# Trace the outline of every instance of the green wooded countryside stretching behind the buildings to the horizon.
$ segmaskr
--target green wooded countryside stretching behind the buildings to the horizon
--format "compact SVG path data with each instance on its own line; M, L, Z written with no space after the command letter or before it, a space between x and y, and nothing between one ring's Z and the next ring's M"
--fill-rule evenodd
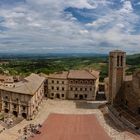
M1 62L4 60L1 60ZM100 81L108 75L108 57L69 57L52 59L7 59L1 63L0 73L27 76L30 73L53 73L70 69L95 69L100 71ZM140 68L140 55L127 56L127 74Z

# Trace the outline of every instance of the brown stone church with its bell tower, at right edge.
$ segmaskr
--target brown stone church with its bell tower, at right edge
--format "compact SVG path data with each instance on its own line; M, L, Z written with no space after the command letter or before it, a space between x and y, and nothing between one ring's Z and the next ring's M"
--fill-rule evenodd
M140 114L140 70L126 76L125 63L125 52L110 52L109 78L105 79L105 93L111 105L124 106L134 114Z

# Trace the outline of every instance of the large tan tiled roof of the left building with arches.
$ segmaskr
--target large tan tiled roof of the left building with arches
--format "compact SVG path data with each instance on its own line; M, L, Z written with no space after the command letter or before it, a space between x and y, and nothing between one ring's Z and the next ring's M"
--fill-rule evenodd
M34 95L44 80L45 78L40 77L37 74L31 74L22 81L14 83L13 87L1 86L0 89L21 94Z

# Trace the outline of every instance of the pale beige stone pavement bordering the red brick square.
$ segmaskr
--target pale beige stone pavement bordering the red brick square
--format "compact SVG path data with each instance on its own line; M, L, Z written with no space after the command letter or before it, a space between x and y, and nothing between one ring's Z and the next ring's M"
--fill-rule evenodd
M127 133L118 131L110 120L105 120L98 105L104 102L99 101L69 101L69 100L43 100L40 111L32 121L23 120L11 129L6 129L0 134L0 140L17 140L20 136L19 129L23 129L28 124L42 124L50 113L62 114L95 114L101 126L113 140L134 140ZM110 124L109 124L110 123ZM112 127L113 126L113 127Z

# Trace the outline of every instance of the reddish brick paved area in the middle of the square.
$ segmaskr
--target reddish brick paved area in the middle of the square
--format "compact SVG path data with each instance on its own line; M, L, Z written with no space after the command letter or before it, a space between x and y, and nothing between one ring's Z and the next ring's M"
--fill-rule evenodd
M30 140L111 140L95 115L50 114Z

